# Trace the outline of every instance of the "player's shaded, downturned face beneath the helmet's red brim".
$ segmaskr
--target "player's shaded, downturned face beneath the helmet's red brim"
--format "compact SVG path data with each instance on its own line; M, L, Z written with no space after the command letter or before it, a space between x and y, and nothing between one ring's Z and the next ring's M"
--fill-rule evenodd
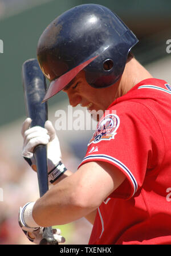
M67 93L68 99L72 107L80 104L92 111L105 111L107 107L115 100L108 88L93 88L86 81L84 71L80 71L78 75L63 89Z

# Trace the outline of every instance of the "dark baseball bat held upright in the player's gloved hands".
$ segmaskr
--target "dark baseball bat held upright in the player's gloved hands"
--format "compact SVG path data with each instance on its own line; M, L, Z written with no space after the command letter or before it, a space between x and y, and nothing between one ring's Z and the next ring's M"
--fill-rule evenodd
M46 94L46 78L36 59L28 59L22 66L23 90L27 117L32 119L31 127L41 126L47 120L47 102L42 103ZM34 150L40 197L48 190L47 149L38 145ZM40 245L56 245L52 227L45 227Z

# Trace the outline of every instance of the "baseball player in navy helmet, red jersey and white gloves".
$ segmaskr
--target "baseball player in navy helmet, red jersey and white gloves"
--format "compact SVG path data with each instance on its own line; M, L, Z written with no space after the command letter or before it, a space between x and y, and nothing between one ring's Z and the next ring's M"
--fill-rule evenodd
M34 147L47 144L52 184L20 209L32 241L42 227L85 216L93 224L90 245L171 243L171 87L137 62L137 42L116 14L94 4L66 11L40 36L38 61L51 81L44 100L63 90L72 107L104 115L74 174L62 162L51 122L23 123L22 154L35 169Z

